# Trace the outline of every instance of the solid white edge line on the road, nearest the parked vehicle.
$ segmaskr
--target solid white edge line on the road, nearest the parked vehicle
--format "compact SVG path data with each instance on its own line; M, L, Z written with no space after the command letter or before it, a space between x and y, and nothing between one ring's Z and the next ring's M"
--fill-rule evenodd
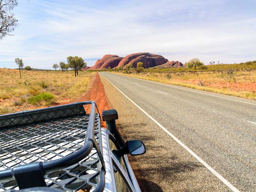
M104 76L104 75L102 75ZM104 76L105 77L105 76ZM105 77L105 79L107 79ZM108 79L107 79L108 80ZM109 81L109 80L108 80ZM109 83L111 83L109 81ZM113 83L111 83L114 87L116 87ZM231 183L229 183L224 177L222 177L218 172L216 172L210 165L204 162L199 156L197 156L191 149L189 149L184 143L182 143L178 138L176 138L172 133L170 133L167 129L165 129L160 123L156 121L152 116L150 116L146 111L144 111L140 106L134 103L129 97L127 97L120 89L116 87L116 89L121 92L124 97L130 100L137 108L139 108L144 114L146 114L152 121L154 121L159 127L161 127L168 135L172 137L177 143L179 143L183 148L185 148L192 156L194 156L201 164L203 164L208 170L210 170L216 177L218 177L224 184L226 184L232 191L239 192L237 188L235 188Z

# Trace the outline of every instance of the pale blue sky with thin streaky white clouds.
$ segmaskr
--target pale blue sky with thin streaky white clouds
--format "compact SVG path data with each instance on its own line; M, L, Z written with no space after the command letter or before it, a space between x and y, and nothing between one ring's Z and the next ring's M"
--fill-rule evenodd
M0 68L52 69L68 56L87 66L106 54L160 54L185 63L256 60L255 0L18 0L19 21L0 40Z

